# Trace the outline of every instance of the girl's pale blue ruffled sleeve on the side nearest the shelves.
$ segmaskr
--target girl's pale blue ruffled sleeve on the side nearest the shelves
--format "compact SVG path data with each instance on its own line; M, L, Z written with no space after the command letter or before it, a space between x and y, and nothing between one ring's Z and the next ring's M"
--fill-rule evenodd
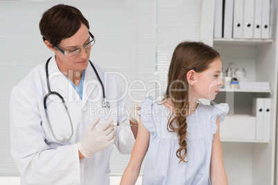
M228 104L217 104L212 106L212 118L210 119L210 130L212 132L212 135L214 135L217 130L216 118L219 117L219 121L223 121L225 116L228 114L228 111Z

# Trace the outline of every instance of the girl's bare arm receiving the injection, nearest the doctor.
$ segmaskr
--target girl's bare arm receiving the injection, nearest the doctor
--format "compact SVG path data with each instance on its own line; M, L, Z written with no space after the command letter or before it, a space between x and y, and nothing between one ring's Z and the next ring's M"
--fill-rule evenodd
M138 134L132 149L129 165L127 166L127 168L124 171L124 174L122 175L122 179L120 182L121 185L124 184L131 185L136 183L136 180L140 173L141 164L145 157L145 154L147 153L148 147L149 147L149 130L145 128L140 118Z

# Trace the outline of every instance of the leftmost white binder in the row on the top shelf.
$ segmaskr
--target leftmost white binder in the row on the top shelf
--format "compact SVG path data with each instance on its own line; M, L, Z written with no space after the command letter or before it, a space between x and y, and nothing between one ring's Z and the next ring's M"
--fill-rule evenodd
M223 0L215 0L214 38L222 38Z

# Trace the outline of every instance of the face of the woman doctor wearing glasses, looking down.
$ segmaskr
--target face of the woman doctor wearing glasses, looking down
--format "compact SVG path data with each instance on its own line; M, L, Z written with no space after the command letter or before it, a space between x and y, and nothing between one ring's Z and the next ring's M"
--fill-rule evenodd
M90 35L88 28L82 23L80 29L72 37L62 39L61 43L57 46L58 48L64 50L65 52L70 52L77 48L89 43ZM91 48L81 49L81 52L73 57L67 57L59 50L55 49L56 62L59 70L62 72L68 72L73 70L74 72L82 72L88 64L90 58Z

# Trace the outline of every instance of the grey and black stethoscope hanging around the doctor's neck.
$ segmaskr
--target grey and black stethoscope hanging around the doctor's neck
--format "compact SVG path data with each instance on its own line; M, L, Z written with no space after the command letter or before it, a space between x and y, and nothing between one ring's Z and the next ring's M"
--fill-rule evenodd
M44 110L46 112L46 118L47 118L48 125L50 127L50 130L51 130L51 133L52 133L53 137L56 139L57 142L64 142L64 141L66 141L67 139L70 139L73 136L73 123L71 121L71 116L68 113L68 108L66 107L66 104L65 104L65 101L64 101L64 98L62 97L62 95L60 95L59 93L57 93L55 91L50 90L49 79L48 79L48 63L49 63L50 59L51 59L51 57L46 61L46 84L47 84L47 88L48 88L48 93L44 97ZM95 75L97 75L97 77L98 77L98 81L100 81L100 85L102 86L102 96L103 96L102 107L103 108L110 108L109 102L106 101L104 86L102 84L102 80L100 79L100 75L98 75L98 71L95 69L95 66L93 66L93 63L90 60L89 60L89 62L91 64L93 70L95 71ZM66 138L60 137L58 139L53 132L53 128L50 124L50 120L49 120L48 113L47 113L47 107L46 107L46 99L48 98L49 95L57 95L59 97L59 99L62 100L62 103L64 104L64 107L66 108L66 113L67 113L68 119L70 120L70 123L71 123L71 135L68 135Z

